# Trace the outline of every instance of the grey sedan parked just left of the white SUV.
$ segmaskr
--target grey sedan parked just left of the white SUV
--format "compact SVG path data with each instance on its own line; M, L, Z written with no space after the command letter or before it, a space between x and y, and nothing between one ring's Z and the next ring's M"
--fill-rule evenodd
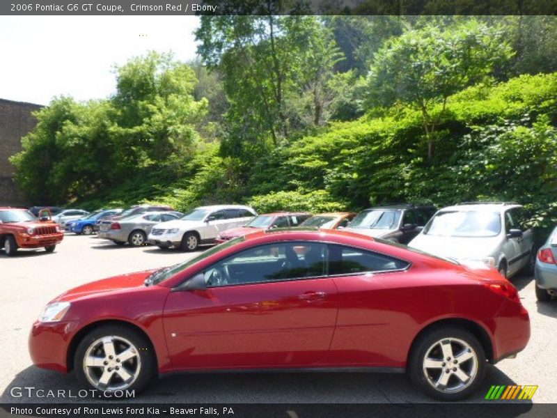
M133 247L140 247L147 244L147 235L153 225L173 221L179 217L177 212L144 212L118 220L104 219L100 222L97 237L111 240L117 245L128 242Z

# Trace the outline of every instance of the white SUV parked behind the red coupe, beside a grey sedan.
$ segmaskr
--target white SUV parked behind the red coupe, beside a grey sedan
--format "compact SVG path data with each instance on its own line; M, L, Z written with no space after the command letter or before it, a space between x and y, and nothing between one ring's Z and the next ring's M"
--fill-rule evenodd
M148 242L159 248L195 251L199 245L214 244L223 231L244 226L256 215L249 206L200 206L180 219L153 226Z

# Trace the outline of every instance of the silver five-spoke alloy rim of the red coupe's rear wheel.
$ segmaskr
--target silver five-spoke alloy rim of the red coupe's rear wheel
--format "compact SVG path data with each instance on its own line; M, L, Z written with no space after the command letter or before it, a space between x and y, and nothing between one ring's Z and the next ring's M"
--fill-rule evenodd
M423 374L427 382L441 393L461 392L478 374L478 355L462 339L441 339L427 349Z

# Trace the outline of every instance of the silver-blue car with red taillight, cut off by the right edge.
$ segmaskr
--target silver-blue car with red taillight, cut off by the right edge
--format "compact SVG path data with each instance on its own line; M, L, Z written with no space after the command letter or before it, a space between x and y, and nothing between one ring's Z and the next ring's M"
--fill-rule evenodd
M535 296L540 302L557 296L557 227L549 234L535 260Z

